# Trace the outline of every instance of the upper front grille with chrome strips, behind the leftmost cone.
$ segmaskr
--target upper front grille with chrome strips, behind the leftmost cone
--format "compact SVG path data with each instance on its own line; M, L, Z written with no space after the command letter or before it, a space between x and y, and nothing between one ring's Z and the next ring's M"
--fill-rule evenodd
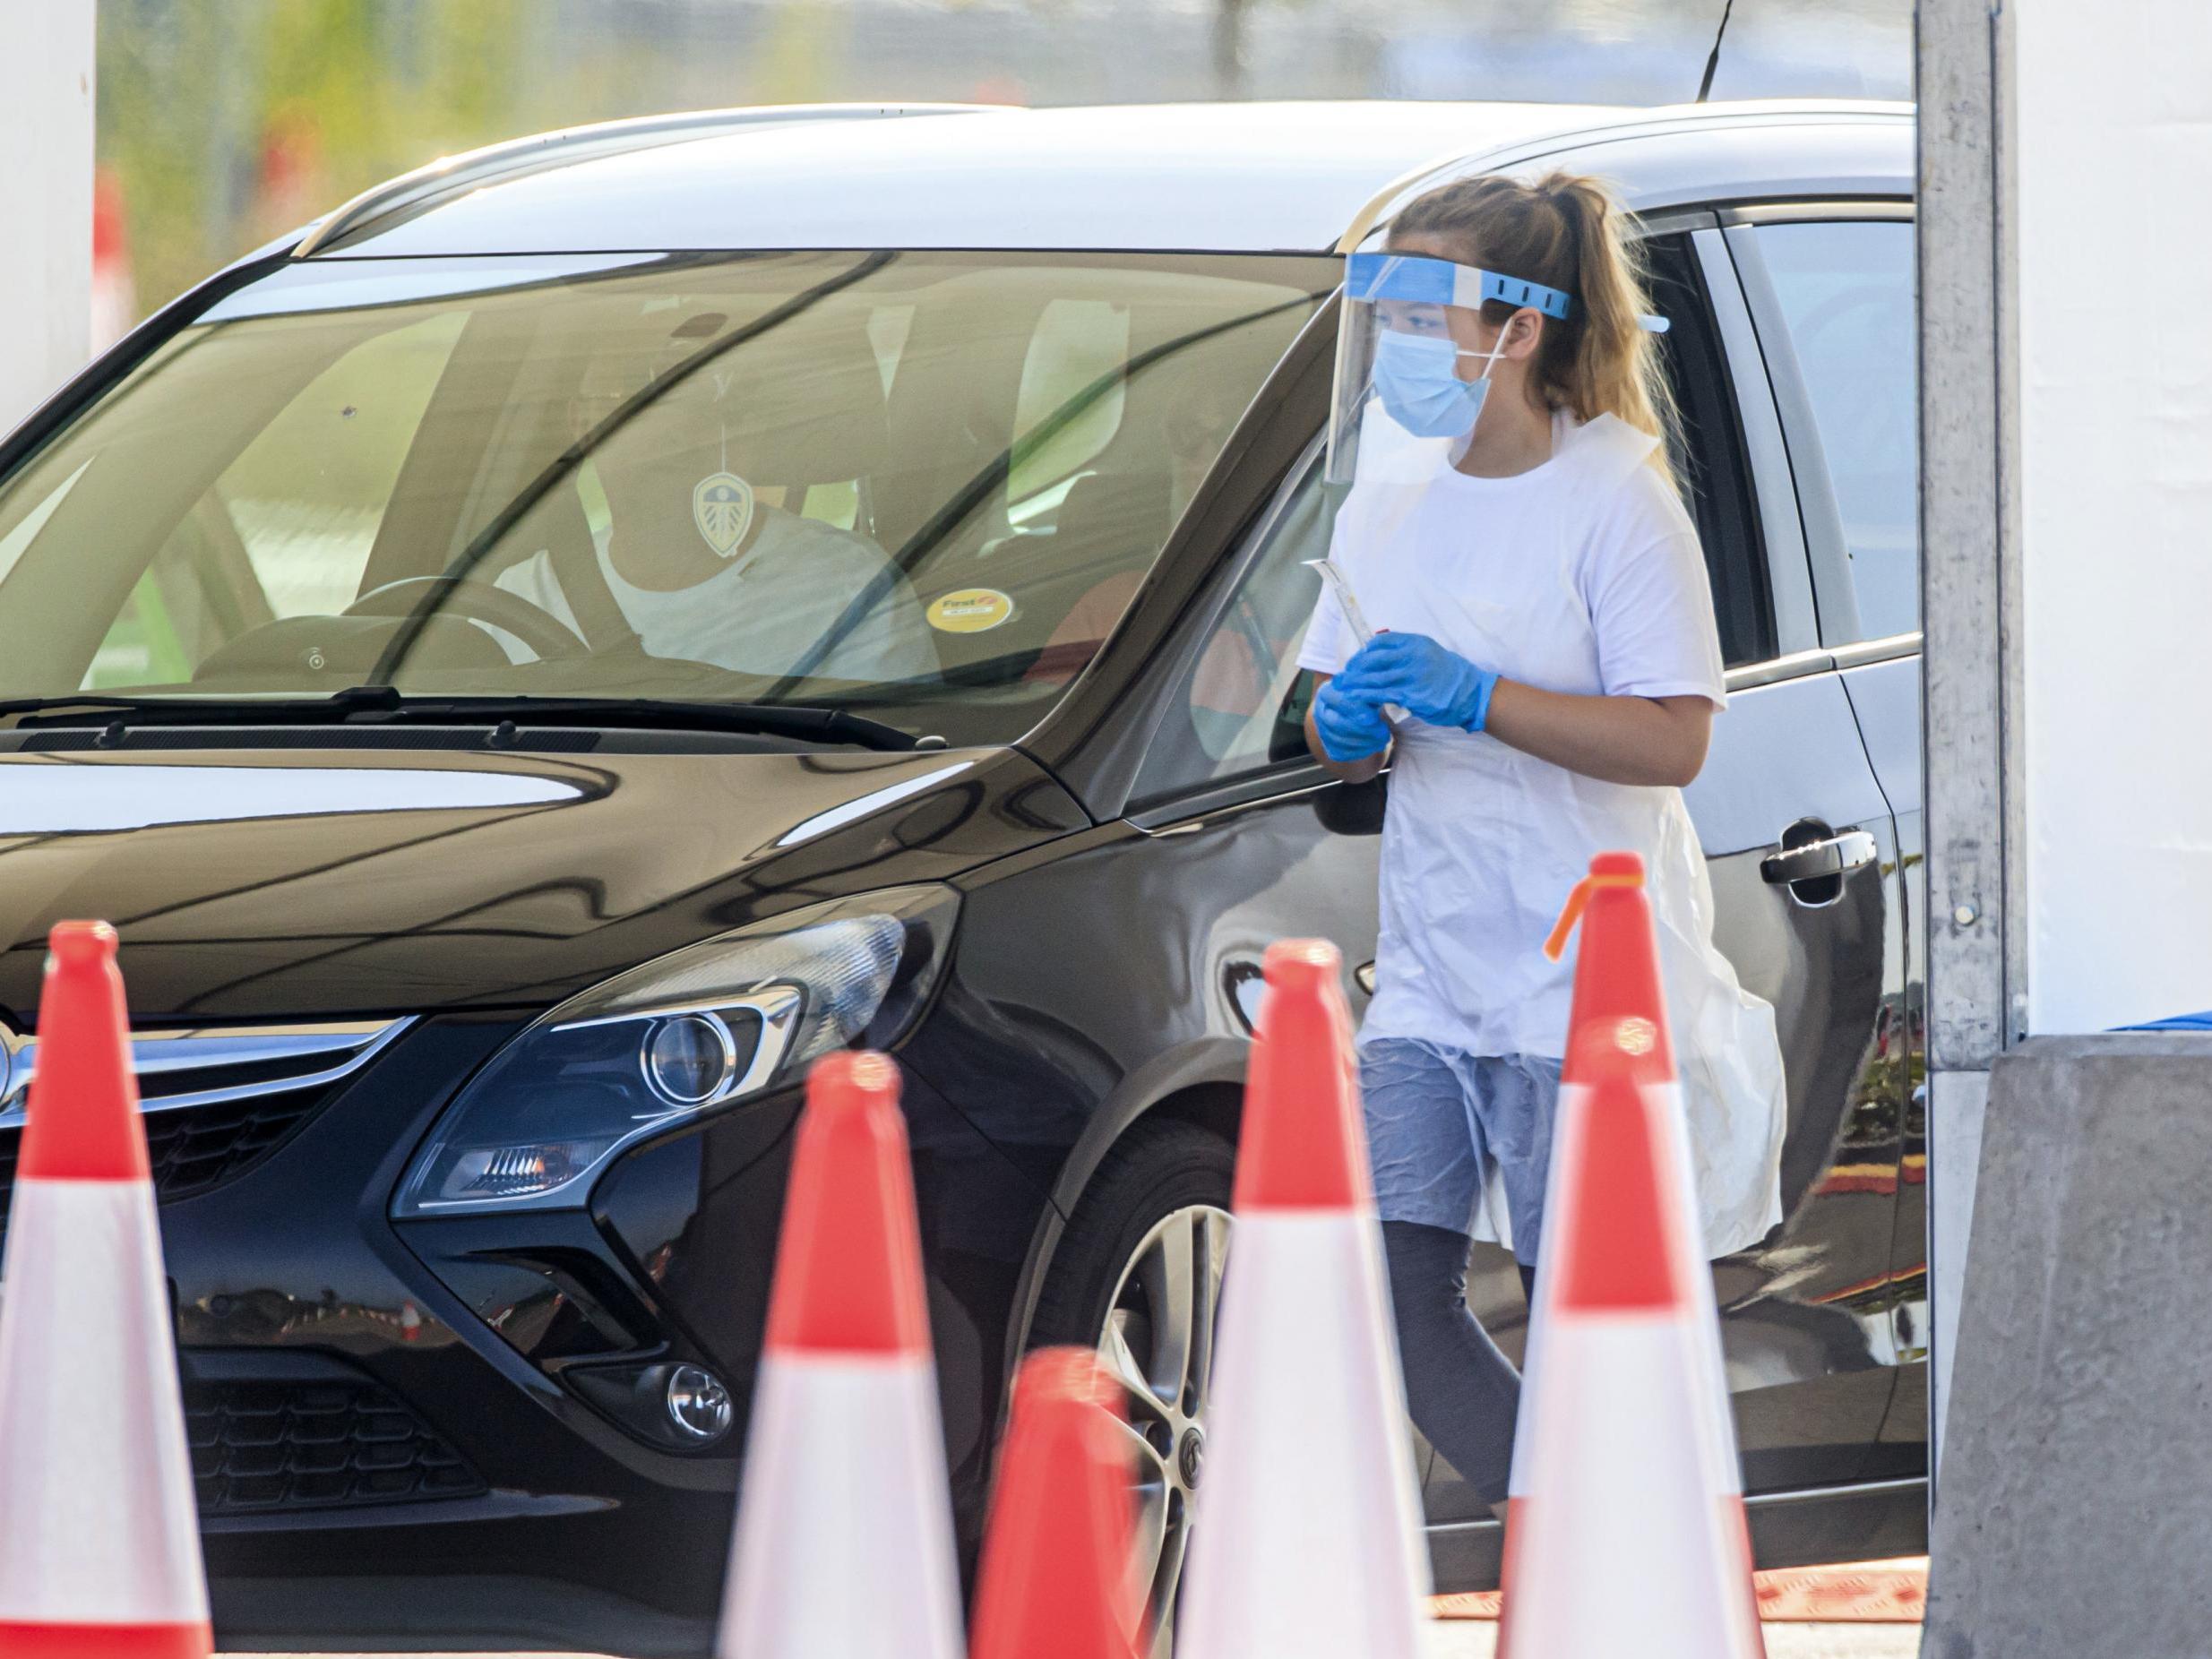
M407 1024L376 1020L133 1037L155 1197L164 1203L192 1199L246 1175ZM22 1104L35 1064L35 1042L9 1042L0 1031L0 1237L15 1192Z

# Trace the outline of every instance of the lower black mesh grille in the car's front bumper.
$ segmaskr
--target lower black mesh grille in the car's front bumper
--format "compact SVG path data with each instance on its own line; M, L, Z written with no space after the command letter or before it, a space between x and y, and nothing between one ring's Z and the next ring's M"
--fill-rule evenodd
M367 1378L184 1380L199 1513L352 1509L489 1491L396 1394Z

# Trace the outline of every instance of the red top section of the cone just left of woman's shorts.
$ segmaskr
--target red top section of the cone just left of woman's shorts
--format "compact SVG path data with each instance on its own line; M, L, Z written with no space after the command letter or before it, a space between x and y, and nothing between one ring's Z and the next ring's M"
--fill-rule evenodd
M1343 964L1327 940L1279 940L1245 1082L1237 1210L1369 1208Z

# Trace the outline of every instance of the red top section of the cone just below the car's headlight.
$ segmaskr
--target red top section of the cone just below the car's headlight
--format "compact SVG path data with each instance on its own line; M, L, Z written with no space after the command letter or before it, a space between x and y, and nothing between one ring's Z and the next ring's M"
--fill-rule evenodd
M916 1239L898 1066L876 1053L818 1060L792 1148L770 1352L927 1354Z

